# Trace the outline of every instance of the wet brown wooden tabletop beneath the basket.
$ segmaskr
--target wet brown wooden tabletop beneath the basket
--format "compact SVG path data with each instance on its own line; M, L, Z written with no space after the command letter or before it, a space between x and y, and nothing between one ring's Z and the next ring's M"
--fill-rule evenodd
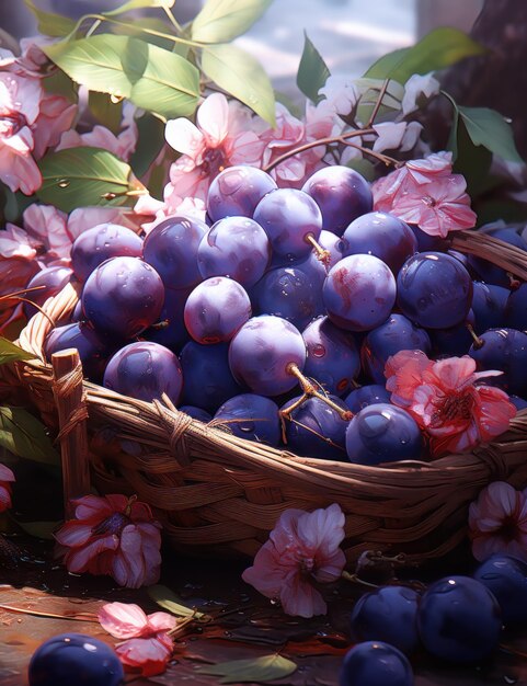
M107 579L68 574L53 559L49 542L9 538L25 549L18 563L4 551L0 560L0 604L22 613L0 609L0 684L25 686L26 670L34 650L44 640L67 631L88 633L108 643L114 639L98 622L68 619L78 613L96 613L104 602L133 602L147 613L160 609L144 590L118 588ZM165 551L161 583L191 607L214 616L176 642L165 674L150 679L127 677L137 686L188 684L209 686L214 676L201 675L206 663L256 658L275 651L298 664L297 671L277 686L337 686L339 668L350 640L347 622L362 590L341 582L328 587L328 617L302 620L287 617L241 581L245 563L181 559ZM434 570L426 571L428 576ZM34 616L28 611L58 617ZM516 654L499 651L478 667L449 667L424 654L415 655L415 686L527 685L527 632L504 637ZM522 656L524 653L526 656ZM270 682L271 683L271 682Z

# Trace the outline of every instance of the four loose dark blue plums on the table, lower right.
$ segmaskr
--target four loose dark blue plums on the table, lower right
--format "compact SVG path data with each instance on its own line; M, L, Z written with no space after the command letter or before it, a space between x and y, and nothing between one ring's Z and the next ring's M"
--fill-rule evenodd
M356 644L341 686L413 686L409 656L421 650L450 664L479 664L497 650L502 628L526 625L527 564L494 554L473 576L445 576L424 592L388 585L363 595L351 616Z

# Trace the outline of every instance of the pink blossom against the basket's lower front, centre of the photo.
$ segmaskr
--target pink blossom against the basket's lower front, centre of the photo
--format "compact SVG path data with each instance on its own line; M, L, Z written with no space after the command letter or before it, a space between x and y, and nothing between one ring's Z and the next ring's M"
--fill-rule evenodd
M288 615L323 615L326 605L313 582L340 578L345 565L339 547L343 539L339 505L311 513L286 510L242 579L266 597L279 599Z

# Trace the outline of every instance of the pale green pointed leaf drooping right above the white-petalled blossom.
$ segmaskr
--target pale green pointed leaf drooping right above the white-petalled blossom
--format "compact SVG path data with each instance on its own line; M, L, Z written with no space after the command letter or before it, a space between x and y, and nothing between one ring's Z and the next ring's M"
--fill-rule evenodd
M204 48L202 68L220 88L276 126L273 87L252 55L236 45L215 45Z

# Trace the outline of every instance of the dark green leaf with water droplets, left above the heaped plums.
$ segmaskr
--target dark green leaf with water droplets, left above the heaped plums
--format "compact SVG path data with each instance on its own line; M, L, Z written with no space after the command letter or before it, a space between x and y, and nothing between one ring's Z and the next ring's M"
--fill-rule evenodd
M130 167L107 150L59 150L46 155L38 165L43 178L38 198L62 211L90 205L118 207L136 201L126 195L138 187Z

